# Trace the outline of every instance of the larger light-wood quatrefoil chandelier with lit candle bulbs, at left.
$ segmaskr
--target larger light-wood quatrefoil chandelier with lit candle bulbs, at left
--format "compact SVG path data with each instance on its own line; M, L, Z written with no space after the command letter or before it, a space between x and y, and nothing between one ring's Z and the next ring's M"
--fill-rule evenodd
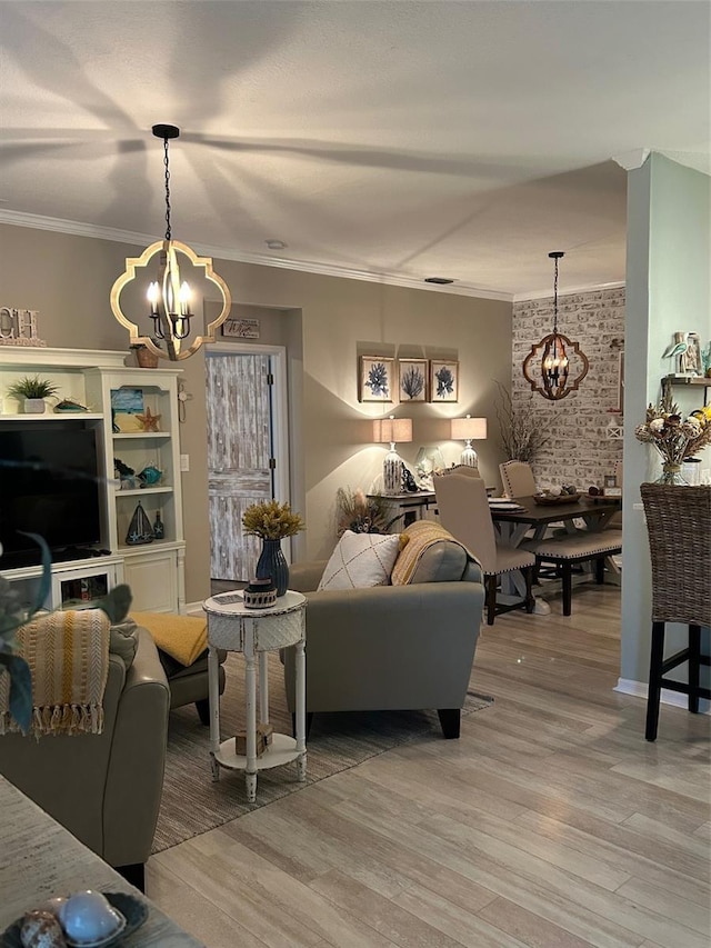
M192 356L203 342L214 342L214 330L221 326L230 313L232 299L224 280L212 269L210 257L198 257L198 255L179 240L172 239L170 226L170 157L168 142L180 136L180 129L176 126L157 124L152 128L156 138L163 140L163 166L166 168L166 239L151 243L140 257L129 257L126 261L126 270L111 288L111 311L114 317L126 327L131 335L131 346L146 346L161 359L178 361ZM138 323L132 322L122 311L120 297L124 287L137 279L136 268L146 267L149 261L158 257L158 271L156 279L150 281L146 291L148 300L147 313L152 326L149 332L141 332ZM217 319L212 320L202 336L196 336L190 345L182 350L182 343L188 340L191 332L191 320L194 313L191 310L192 291L187 280L181 277L179 257L183 261L190 261L193 268L200 267L204 271L204 279L217 287L222 301L222 308ZM184 270L184 267L183 267ZM187 345L187 343L186 343Z

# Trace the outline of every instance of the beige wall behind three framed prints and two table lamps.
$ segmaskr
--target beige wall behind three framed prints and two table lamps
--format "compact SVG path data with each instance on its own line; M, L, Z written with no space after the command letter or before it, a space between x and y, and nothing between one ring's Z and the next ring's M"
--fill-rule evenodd
M0 226L0 306L38 309L40 336L49 346L127 348L109 292L124 258L142 248L9 226ZM359 353L459 359L458 405L394 408L413 419L413 441L400 452L412 462L421 445L438 443L445 460L455 461L462 446L449 440L448 419L487 416L489 439L477 445L480 468L487 483L499 482L492 379L505 382L511 376L510 303L234 261L214 266L236 303L290 310L280 338L288 349L292 399L292 503L308 526L300 557L330 553L337 489L370 489L381 470L387 448L370 443L369 419L393 409L359 403ZM183 475L187 598L197 601L209 592L202 353L181 368L193 396L181 450L191 465Z

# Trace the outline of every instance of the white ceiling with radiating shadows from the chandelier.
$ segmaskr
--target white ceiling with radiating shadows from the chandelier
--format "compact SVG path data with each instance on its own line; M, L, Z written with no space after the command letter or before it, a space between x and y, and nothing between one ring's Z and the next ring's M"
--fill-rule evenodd
M709 173L710 37L705 0L0 0L0 220L162 237L171 122L199 252L511 299L564 250L561 291L622 281L614 159Z

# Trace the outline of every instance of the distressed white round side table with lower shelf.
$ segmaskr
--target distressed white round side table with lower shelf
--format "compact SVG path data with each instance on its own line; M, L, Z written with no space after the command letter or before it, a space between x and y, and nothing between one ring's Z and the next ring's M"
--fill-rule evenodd
M220 768L244 770L247 799L257 799L257 774L271 767L297 761L299 780L307 779L306 748L306 596L287 590L268 609L248 609L240 592L222 592L202 603L208 617L208 693L210 701L210 765L212 779ZM257 675L259 659L259 722L269 724L268 652L296 646L297 708L294 738L274 734L272 742L257 757ZM247 754L236 751L234 738L220 740L220 688L217 650L244 656Z

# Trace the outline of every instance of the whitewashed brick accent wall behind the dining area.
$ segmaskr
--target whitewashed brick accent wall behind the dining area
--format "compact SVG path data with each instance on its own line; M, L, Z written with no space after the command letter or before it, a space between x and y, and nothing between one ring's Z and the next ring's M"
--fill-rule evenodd
M523 360L531 346L553 328L553 298L513 305L512 399L515 406L531 396L523 378ZM558 297L558 329L578 342L590 368L578 391L559 401L532 393L532 407L550 440L532 463L539 488L561 482L587 491L602 487L622 460L622 440L609 437L618 407L619 353L624 347L624 288L591 290Z

